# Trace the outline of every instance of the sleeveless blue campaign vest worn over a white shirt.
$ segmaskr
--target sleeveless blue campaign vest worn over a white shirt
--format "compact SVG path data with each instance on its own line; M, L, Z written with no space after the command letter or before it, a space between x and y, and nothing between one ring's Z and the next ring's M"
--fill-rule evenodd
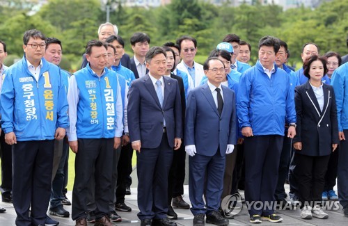
M77 138L115 137L118 97L116 72L105 69L105 73L98 77L88 64L75 72L74 76L79 89Z

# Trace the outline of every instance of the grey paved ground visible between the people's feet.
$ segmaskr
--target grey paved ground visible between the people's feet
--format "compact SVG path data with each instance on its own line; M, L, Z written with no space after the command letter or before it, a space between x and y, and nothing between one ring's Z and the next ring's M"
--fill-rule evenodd
M135 179L135 178L134 178ZM285 185L288 191L288 186ZM71 191L68 193L68 197L71 200ZM184 186L184 200L189 202L188 187ZM132 207L132 212L118 212L122 217L122 223L117 223L117 225L140 225L139 219L136 216L139 209L136 206L136 188L132 188L132 194L126 196L127 205ZM15 210L12 204L7 204L5 202L0 202L0 207L6 208L6 213L0 213L0 226L11 226L15 225ZM71 212L71 206L65 206L65 209ZM192 225L193 216L191 211L184 209L175 209L178 214L179 219L175 220L177 225ZM326 211L329 214L329 218L326 220L320 220L313 218L312 220L302 220L300 218L299 209L296 210L281 210L277 213L283 217L283 223L269 223L262 222L260 225L322 225L322 226L347 226L348 218L343 215L342 207L335 211ZM59 225L74 225L74 221L71 218L58 218L52 216L55 220L60 222ZM246 211L246 205L240 211L234 220L230 220L230 225L251 225L248 222L248 212ZM90 226L93 224L89 224ZM207 224L209 225L209 224Z

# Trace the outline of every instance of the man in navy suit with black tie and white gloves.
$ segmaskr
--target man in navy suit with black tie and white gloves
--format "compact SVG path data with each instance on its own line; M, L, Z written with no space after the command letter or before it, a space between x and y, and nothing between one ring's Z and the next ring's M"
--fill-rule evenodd
M223 218L218 209L225 154L232 153L236 144L235 92L221 86L225 67L219 58L208 58L203 70L208 81L189 93L184 133L185 151L190 156L189 196L193 225L204 225L205 215L207 223L228 225L228 219Z

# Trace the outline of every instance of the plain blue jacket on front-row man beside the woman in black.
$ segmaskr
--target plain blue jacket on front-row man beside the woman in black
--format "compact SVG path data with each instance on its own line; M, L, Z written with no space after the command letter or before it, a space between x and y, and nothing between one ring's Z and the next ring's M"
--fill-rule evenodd
M271 79L260 61L242 74L237 94L239 126L251 127L253 134L284 136L284 125L296 122L294 89L290 76L276 65Z

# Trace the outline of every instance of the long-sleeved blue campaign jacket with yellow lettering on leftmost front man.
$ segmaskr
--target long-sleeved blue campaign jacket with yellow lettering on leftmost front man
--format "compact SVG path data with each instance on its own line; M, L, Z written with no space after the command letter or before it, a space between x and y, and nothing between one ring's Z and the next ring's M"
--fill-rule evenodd
M53 140L57 127L68 128L68 102L61 70L42 58L38 81L26 57L8 68L1 90L1 126L18 141Z

